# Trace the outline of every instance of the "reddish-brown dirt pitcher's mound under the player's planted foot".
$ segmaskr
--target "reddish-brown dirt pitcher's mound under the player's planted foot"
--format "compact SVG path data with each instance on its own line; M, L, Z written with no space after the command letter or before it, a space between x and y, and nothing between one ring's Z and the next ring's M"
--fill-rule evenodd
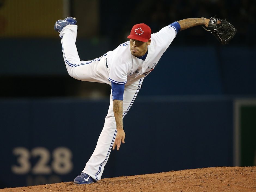
M256 191L256 167L210 167L122 176L89 185L72 182L0 189L0 192Z

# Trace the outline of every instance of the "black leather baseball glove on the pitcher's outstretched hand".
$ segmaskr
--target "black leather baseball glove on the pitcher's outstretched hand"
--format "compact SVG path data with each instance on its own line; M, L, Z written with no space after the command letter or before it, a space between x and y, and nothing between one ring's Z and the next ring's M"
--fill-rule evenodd
M220 24L217 24L218 20ZM203 26L203 25L202 25ZM211 31L211 33L225 45L236 35L236 29L233 25L227 22L225 19L220 19L218 17L211 17L209 25L206 28L203 26L206 31Z

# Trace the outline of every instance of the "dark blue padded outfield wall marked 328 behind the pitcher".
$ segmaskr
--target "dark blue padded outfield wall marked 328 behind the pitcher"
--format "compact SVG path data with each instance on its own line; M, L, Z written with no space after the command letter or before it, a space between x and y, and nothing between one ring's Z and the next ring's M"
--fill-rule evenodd
M125 144L112 151L103 178L233 166L233 101L139 95L124 118ZM74 179L95 148L108 103L2 99L1 188Z

